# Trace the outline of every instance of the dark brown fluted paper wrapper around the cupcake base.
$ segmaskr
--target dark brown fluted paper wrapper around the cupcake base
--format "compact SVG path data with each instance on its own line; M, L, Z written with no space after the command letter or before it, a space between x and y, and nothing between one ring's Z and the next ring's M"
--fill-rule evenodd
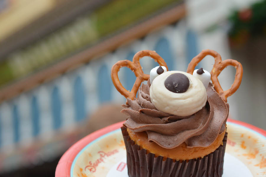
M121 127L126 145L127 168L129 177L221 177L227 133L223 145L204 158L175 161L162 156L155 157L130 139L125 127ZM175 162L174 162L175 161Z

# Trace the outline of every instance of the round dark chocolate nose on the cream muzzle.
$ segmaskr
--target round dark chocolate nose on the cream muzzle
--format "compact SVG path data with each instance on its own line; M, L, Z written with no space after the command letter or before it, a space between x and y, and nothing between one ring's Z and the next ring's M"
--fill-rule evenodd
M174 73L166 78L164 85L171 92L184 93L189 88L189 79L182 73Z

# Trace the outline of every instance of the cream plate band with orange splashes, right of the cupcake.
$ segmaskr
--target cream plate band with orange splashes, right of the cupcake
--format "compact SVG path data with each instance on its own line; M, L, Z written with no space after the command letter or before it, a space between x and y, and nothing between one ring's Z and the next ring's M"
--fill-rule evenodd
M241 160L253 176L266 176L265 135L237 123L227 123L226 153Z

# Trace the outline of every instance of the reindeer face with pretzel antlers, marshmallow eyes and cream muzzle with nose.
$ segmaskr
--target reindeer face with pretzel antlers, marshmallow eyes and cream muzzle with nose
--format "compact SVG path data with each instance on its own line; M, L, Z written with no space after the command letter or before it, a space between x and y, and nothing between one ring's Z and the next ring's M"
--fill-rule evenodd
M202 68L194 70L195 66L207 55L215 58L212 71L209 73ZM160 65L153 68L150 75L143 73L139 62L140 58L144 56L150 56ZM218 76L228 65L236 68L236 75L231 88L223 91ZM118 71L121 67L130 68L137 77L131 91L126 90L119 81ZM160 55L151 50L142 50L136 53L132 62L121 60L113 65L111 70L114 86L126 98L135 99L142 81L147 81L150 78L150 99L155 108L162 112L184 117L198 112L205 106L207 101L206 90L210 80L213 82L214 89L227 102L227 97L239 88L242 76L241 63L232 59L222 60L221 56L213 50L202 50L189 63L187 72L168 71L167 65Z

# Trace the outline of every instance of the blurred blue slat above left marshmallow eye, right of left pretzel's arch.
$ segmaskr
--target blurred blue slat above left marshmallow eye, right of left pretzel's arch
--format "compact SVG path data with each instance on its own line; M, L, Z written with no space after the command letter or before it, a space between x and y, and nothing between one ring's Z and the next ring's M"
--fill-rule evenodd
M166 62L169 71L174 70L173 53L171 52L170 42L165 37L159 39L159 41L155 45L155 49L154 50ZM155 63L154 67L158 66L158 65L159 65L158 63Z

